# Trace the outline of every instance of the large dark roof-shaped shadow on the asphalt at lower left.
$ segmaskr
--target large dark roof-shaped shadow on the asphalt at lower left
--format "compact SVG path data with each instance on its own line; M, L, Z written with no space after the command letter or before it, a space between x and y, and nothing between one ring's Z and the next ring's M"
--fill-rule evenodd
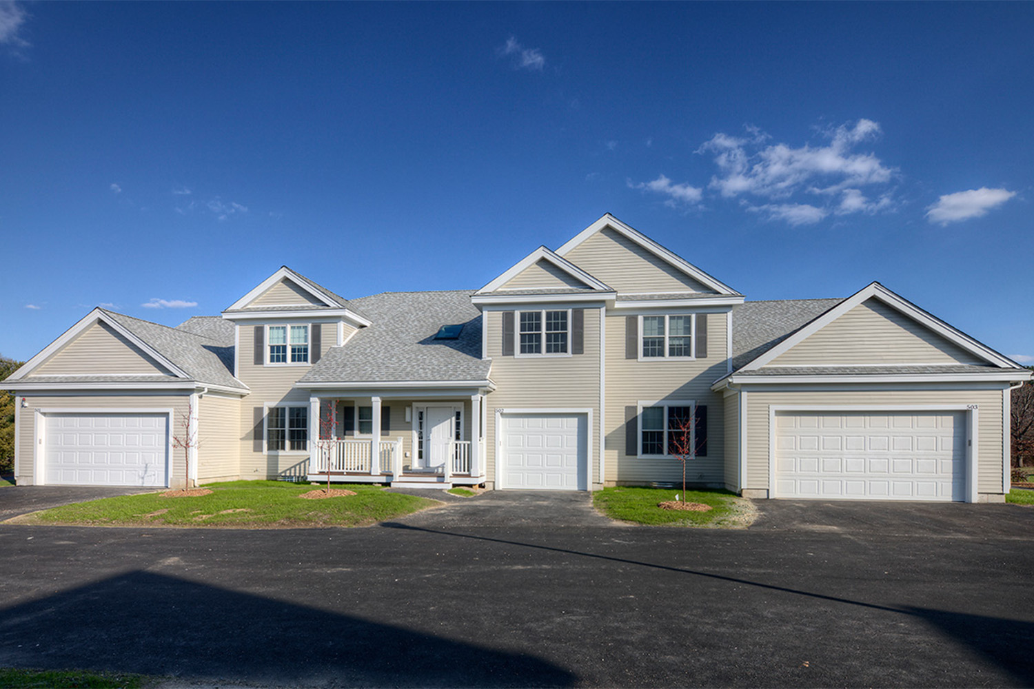
M567 687L578 679L527 655L144 571L0 610L0 665L293 686Z

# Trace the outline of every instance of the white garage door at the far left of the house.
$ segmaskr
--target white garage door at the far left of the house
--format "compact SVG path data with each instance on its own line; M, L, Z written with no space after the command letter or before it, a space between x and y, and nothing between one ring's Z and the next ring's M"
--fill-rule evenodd
M45 414L51 486L169 486L169 414Z

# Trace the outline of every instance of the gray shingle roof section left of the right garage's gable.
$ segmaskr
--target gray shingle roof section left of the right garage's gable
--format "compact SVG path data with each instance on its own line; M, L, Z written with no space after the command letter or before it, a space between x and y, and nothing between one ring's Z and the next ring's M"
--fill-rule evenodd
M747 366L843 301L780 300L732 307L732 370Z

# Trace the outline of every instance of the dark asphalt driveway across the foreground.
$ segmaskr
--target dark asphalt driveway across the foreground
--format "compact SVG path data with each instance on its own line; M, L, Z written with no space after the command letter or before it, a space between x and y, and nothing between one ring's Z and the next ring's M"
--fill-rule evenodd
M0 666L197 685L1034 685L1034 510L759 502L755 528L718 531L544 525L539 499L566 496L364 529L0 525ZM526 523L474 519L490 500Z

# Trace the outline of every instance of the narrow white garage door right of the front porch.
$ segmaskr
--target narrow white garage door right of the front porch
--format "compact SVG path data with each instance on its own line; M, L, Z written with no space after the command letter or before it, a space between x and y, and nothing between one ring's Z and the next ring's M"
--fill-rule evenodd
M503 414L499 488L588 490L585 414Z

